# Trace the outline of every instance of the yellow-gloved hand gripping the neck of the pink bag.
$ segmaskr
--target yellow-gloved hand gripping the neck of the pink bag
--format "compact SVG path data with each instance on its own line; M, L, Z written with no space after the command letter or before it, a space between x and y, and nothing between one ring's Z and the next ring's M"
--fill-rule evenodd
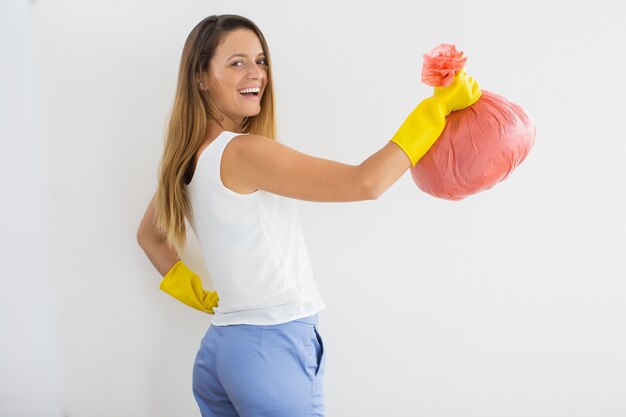
M478 83L463 68L449 86L435 87L433 95L417 105L390 141L400 146L415 166L443 132L446 116L471 106L479 98Z

